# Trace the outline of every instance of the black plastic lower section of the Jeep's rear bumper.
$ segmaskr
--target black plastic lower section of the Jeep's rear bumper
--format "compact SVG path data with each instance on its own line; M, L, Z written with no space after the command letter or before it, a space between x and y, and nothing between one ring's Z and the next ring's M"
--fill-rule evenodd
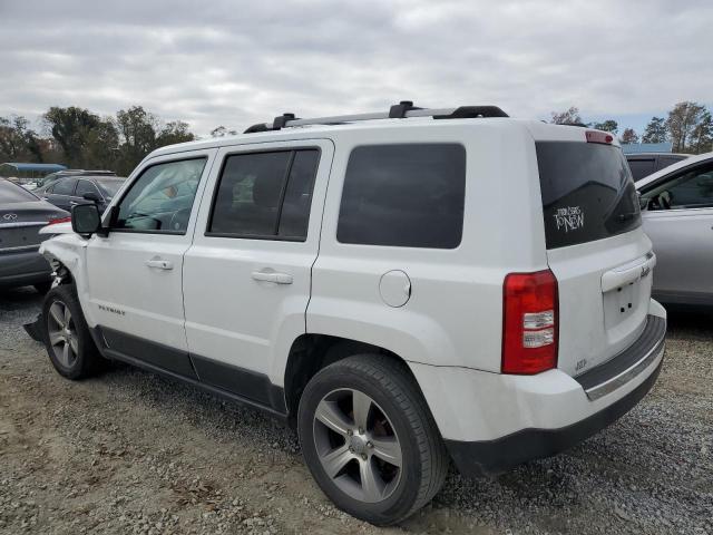
M500 474L525 461L553 456L596 435L628 412L652 389L662 364L663 359L644 382L625 397L570 426L559 429L525 429L488 441L446 440L446 446L456 467L466 476Z

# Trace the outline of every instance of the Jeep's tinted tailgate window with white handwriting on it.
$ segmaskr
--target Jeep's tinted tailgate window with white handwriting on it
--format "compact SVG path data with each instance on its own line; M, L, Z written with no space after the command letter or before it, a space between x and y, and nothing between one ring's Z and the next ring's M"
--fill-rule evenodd
M615 236L642 224L634 179L619 147L538 142L547 249Z

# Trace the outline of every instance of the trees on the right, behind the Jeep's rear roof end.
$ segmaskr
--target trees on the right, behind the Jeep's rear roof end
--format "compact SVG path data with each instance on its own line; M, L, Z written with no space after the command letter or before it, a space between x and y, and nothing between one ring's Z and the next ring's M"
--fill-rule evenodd
M585 124L576 106L564 111L553 111L550 121L557 125L590 126L614 135L619 133L619 125L614 119ZM641 134L633 128L624 128L619 142L671 142L674 153L709 153L713 150L713 116L711 110L702 104L678 103L668 111L667 117L652 117Z

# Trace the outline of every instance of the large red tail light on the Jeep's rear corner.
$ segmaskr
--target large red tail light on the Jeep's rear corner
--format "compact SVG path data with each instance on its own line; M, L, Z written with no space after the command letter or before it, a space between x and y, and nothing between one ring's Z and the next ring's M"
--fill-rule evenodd
M557 366L557 279L551 271L510 273L502 284L502 373Z

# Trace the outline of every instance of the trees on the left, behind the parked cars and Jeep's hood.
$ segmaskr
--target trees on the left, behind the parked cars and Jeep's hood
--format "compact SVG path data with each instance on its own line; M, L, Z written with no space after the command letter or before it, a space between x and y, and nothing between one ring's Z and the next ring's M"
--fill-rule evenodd
M0 163L61 163L126 176L155 148L195 138L187 123L163 123L141 106L108 117L76 106L51 107L39 133L26 117L0 117Z

